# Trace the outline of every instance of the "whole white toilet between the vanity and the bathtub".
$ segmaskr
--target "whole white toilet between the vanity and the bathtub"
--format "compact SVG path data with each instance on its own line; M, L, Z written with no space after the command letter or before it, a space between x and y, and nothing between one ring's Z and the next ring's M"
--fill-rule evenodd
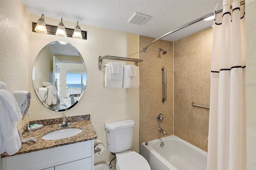
M134 124L132 119L105 124L108 150L116 154L116 170L150 170L147 160L130 150Z

